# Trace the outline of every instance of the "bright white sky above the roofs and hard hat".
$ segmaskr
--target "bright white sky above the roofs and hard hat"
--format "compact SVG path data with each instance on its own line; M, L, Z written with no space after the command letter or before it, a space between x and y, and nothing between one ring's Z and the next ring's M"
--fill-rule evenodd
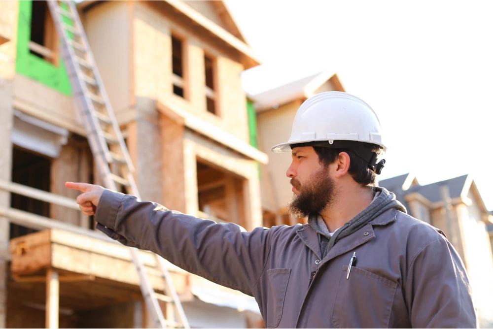
M262 79L259 69L243 74L248 92L333 69L380 118L381 179L472 174L493 210L493 4L225 1L265 64Z

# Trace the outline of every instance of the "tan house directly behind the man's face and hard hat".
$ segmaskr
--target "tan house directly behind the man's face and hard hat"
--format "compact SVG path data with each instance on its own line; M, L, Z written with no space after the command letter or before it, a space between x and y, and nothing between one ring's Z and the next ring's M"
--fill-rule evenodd
M261 165L264 226L292 225L303 221L286 214L292 192L284 173L291 163L291 155L275 154L270 149L289 139L294 116L301 103L312 95L326 91L344 91L333 71L322 71L259 94L248 95L257 112L258 147L269 154L269 163Z

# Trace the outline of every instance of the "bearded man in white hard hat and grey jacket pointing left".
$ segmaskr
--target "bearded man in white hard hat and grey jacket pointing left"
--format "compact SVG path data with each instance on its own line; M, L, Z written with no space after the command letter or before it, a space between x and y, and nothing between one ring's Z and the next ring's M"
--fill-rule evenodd
M307 225L246 232L101 186L67 187L111 238L254 296L266 328L477 328L455 249L378 187L386 147L368 104L317 94L272 150L291 152L288 209Z

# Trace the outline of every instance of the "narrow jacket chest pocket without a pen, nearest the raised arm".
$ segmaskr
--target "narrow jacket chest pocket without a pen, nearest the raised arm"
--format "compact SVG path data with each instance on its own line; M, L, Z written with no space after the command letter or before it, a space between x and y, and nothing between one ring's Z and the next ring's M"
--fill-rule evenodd
M287 282L291 274L290 268L271 268L267 270L269 293L267 294L267 328L279 326L286 296Z

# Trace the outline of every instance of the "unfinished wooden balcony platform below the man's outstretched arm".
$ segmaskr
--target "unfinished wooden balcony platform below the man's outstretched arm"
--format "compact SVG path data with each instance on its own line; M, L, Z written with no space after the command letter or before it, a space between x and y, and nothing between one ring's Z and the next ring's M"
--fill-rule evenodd
M67 273L61 281L106 279L135 286L139 278L127 247L97 238L63 230L44 230L10 242L11 272L19 282L39 281L39 273L56 269ZM154 289L163 291L164 284L157 268L156 256L141 251L141 258ZM184 291L186 272L168 263L168 269L179 292Z

